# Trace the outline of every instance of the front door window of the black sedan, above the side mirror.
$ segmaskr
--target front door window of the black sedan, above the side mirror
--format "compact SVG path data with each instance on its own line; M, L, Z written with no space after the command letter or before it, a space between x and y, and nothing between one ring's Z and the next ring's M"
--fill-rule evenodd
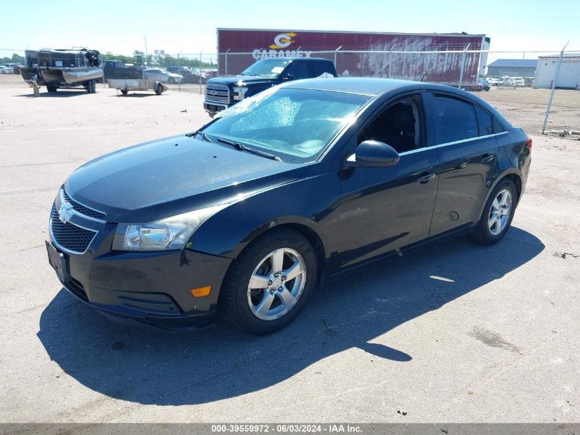
M358 143L378 140L391 145L397 153L425 146L421 96L416 95L390 104L358 135Z

